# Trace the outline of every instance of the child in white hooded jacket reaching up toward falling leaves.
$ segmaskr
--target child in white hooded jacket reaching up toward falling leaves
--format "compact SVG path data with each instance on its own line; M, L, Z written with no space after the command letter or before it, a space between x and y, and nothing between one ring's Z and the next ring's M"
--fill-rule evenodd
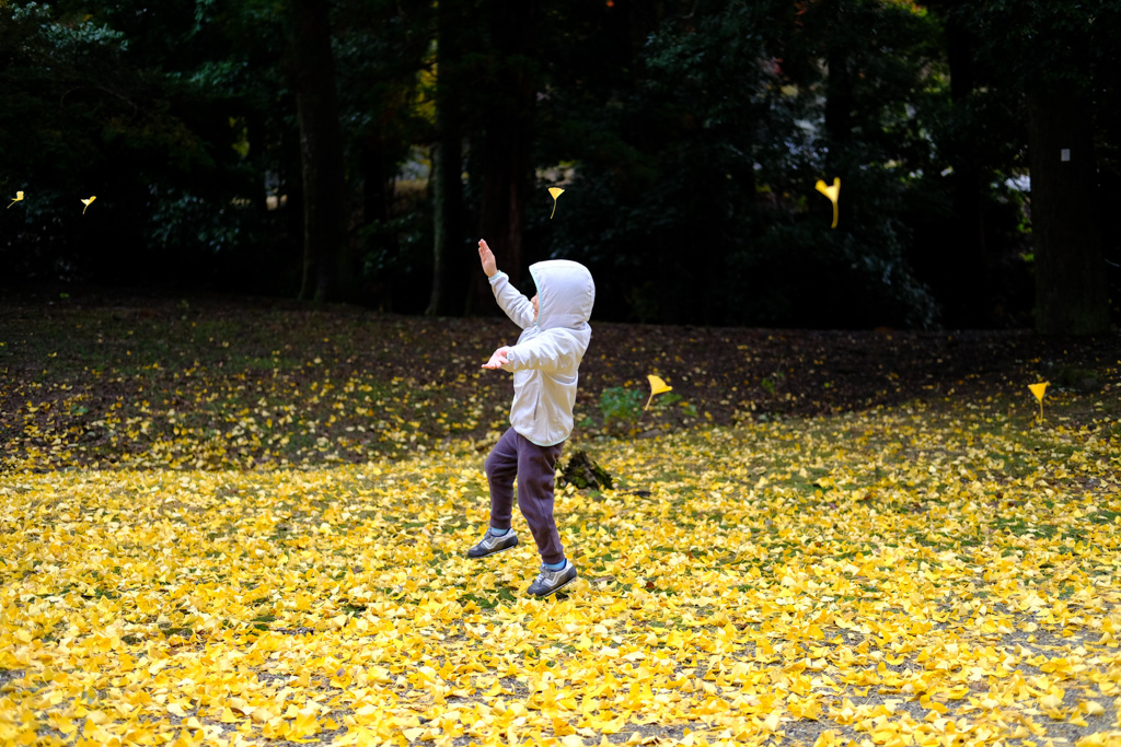
M527 299L510 284L509 276L499 272L485 241L479 242L479 260L498 305L522 333L517 345L498 348L483 364L513 373L513 403L511 427L484 465L491 491L490 529L467 557L485 558L518 544L510 529L517 477L518 507L541 555L541 572L529 594L547 597L576 580L576 567L565 559L553 520L553 483L560 449L572 432L580 362L592 339L587 320L595 283L578 262L537 262L529 268L537 295Z

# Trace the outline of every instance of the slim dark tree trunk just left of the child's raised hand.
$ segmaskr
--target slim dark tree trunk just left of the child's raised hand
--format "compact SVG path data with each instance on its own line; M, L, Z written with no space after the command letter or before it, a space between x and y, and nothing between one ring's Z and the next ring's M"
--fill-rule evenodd
M463 314L471 287L463 227L463 133L458 72L463 29L457 4L442 0L436 12L436 127L438 141L432 149L433 270L428 316ZM478 278L476 278L478 280Z

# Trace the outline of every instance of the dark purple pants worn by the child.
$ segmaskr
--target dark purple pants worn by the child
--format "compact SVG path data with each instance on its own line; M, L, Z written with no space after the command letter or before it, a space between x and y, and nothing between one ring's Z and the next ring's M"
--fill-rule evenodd
M564 441L537 446L512 428L502 433L483 468L491 486L491 520L494 529L510 529L513 512L513 478L518 478L518 507L547 563L564 560L560 535L553 520L553 485Z

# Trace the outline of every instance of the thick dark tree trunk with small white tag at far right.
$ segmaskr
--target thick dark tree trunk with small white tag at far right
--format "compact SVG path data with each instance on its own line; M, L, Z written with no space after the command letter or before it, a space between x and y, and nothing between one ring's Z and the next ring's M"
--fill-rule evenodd
M1109 330L1105 259L1090 102L1074 86L1040 84L1028 96L1036 330Z

